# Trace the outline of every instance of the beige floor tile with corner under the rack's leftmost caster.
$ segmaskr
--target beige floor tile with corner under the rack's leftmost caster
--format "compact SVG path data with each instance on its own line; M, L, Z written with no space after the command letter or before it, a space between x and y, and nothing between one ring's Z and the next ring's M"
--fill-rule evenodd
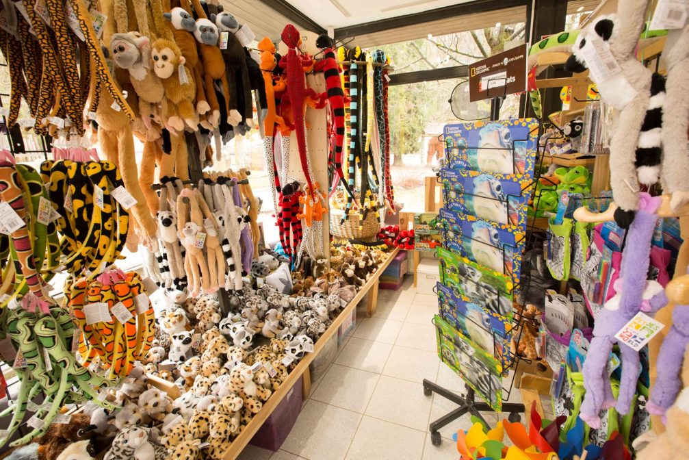
M364 414L425 431L431 405L420 383L382 375Z

